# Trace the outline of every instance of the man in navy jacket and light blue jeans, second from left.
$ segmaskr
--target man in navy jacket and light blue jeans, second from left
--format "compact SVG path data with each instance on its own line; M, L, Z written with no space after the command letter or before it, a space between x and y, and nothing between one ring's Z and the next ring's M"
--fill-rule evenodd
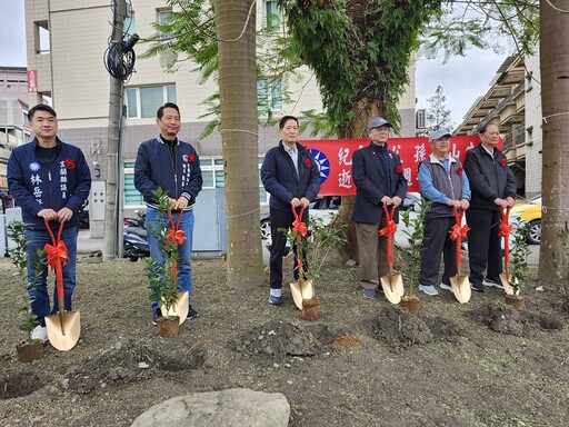
M193 203L201 191L202 177L200 159L196 149L188 142L178 139L181 128L180 110L176 103L167 102L157 111L156 122L160 128L158 138L140 145L134 163L134 187L140 191L147 203L146 229L150 257L153 261L164 262L164 254L151 232L150 224L166 222L168 218L158 212L154 191L161 188L167 192L174 224L181 216L180 230L186 241L178 246L178 286L191 296L191 248L193 234ZM156 228L156 226L153 226ZM151 304L152 325L157 325L161 310L156 302ZM199 314L191 306L188 319Z

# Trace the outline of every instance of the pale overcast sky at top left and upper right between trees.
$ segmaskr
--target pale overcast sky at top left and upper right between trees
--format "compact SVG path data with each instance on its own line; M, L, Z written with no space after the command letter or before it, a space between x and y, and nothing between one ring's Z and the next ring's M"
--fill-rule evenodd
M0 66L26 67L23 0L0 0L0 10L3 16L0 26ZM419 59L416 73L417 108L428 108L427 99L435 95L440 85L452 121L459 125L478 97L488 91L496 70L505 59L506 54L478 49L446 64L442 64L442 59Z

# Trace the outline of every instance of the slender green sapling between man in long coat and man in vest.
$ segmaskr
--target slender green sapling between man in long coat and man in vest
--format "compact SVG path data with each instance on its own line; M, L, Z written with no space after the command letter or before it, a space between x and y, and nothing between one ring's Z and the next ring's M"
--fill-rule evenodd
M429 200L422 199L421 210L416 218L411 218L411 210L402 211L400 220L405 224L406 230L403 231L407 237L408 247L398 248L401 258L407 262L406 276L409 278L409 296L413 297L416 291L417 280L421 271L421 245L425 237L425 216L431 208Z

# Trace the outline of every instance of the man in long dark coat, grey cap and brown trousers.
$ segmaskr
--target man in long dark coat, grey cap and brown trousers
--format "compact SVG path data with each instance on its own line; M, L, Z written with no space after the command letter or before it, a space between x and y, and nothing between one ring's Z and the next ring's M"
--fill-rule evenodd
M401 205L407 192L401 158L387 148L391 123L382 117L368 125L370 143L352 156L356 201L351 220L356 222L360 282L366 298L375 298L379 278L387 275L387 237L379 230L387 225L383 206ZM396 211L395 220L398 221Z

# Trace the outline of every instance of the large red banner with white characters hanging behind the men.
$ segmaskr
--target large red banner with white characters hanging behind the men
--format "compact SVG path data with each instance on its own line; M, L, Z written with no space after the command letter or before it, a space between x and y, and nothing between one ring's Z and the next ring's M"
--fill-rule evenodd
M477 135L452 137L449 153L465 160L468 149L480 142ZM351 176L351 156L358 148L370 143L369 139L335 139L300 141L308 147L320 167L320 196L348 196L356 193L356 185ZM402 160L403 175L409 182L407 191L419 191L417 170L419 163L431 153L427 137L390 138L390 150L396 151ZM498 143L501 148L501 141Z

